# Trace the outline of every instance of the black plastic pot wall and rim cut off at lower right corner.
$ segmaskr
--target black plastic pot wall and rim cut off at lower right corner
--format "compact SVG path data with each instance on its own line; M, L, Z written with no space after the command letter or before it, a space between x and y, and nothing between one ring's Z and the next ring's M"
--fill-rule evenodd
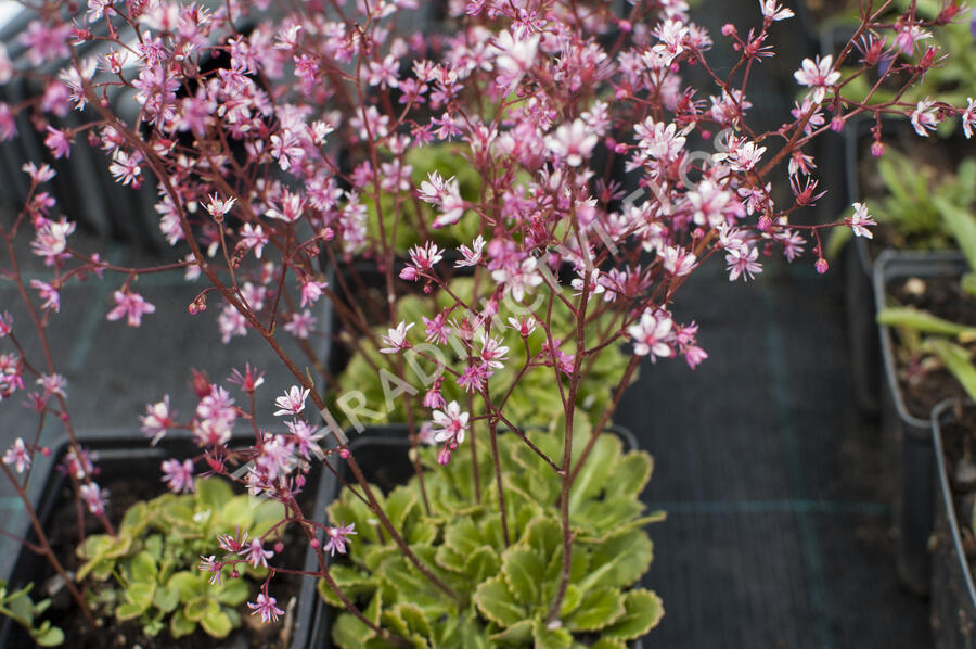
M956 420L962 411L960 405L949 399L932 412L932 440L940 486L932 560L930 614L936 649L976 649L976 585L963 547L953 480L949 474L954 458L945 455L945 427ZM972 417L973 410L968 409L967 413Z

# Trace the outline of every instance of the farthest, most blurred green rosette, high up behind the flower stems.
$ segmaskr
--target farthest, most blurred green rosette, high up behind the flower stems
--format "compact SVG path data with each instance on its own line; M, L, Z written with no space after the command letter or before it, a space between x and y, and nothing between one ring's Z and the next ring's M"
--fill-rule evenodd
M453 143L428 144L411 149L403 156L404 164L410 165L410 180L412 187L420 187L427 180L429 174L437 171L448 180L455 178L461 198L468 202L478 202L481 192L481 177L477 169L465 157L466 147ZM362 203L367 207L367 233L380 241L393 241L394 250L399 255L407 252L422 241L434 241L444 247L457 247L462 243L468 243L478 234L477 220L461 219L459 222L446 228L434 229L431 224L437 218L437 213L432 205L424 203L409 191L389 192L380 194L380 207L383 211L384 237L380 236L380 214L376 202L368 191L362 194ZM398 207L399 206L399 207ZM394 224L397 221L396 213L400 209L400 221L397 225L396 237L390 238Z

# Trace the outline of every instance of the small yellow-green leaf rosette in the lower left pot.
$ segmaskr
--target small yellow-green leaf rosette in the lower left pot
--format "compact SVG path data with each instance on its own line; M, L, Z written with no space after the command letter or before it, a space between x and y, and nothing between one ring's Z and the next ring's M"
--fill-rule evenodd
M89 536L78 548L84 561L78 581L88 580L94 611L119 622L136 621L147 636L168 629L179 638L197 625L216 638L240 626L237 608L256 590L267 569L239 564L241 576L223 569L221 584L208 583L201 557L217 555L218 534L247 530L251 537L268 532L284 516L272 500L234 495L219 478L196 480L192 494L164 494L134 504L117 536ZM251 580L246 577L252 577Z

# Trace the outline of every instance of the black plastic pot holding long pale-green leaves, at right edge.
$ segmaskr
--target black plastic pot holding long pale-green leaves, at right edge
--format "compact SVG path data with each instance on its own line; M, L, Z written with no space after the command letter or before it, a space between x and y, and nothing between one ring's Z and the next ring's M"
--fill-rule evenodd
M909 253L885 251L874 264L875 306L885 306L885 288L898 278L959 277L966 268L959 253ZM902 584L916 595L926 595L932 578L928 551L935 498L935 457L932 423L911 415L898 387L891 331L878 326L884 365L881 430L889 446L889 466L895 467L895 523L898 529L896 569ZM894 445L894 447L891 446Z

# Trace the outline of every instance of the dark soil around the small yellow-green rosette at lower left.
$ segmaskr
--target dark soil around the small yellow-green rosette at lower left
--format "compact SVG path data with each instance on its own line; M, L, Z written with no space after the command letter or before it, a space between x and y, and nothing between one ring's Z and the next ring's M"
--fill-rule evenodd
M125 512L139 500L156 497L164 493L162 483L154 484L145 480L114 480L107 481L110 499L106 514L113 524L121 521ZM306 494L311 494L307 491ZM311 496L309 495L309 500ZM303 506L309 505L303 502ZM309 511L308 509L304 509ZM75 555L78 547L78 511L72 497L70 486L65 485L57 506L51 516L48 527L50 543L59 560L69 573L74 573L80 561ZM101 525L92 517L85 517L85 534L103 533ZM285 551L275 556L274 563L290 568L300 567L305 560L307 544L299 538L294 530L285 534ZM48 583L54 576L52 570L47 569L40 583ZM98 584L89 582L89 587ZM297 575L278 574L271 583L270 594L278 599L281 609L288 609L288 602L297 598L301 591L301 577ZM297 608L297 603L292 606ZM283 616L277 623L262 624L259 616L252 616L246 603L237 608L241 614L241 626L223 638L217 639L208 636L202 629L189 636L174 639L167 629L158 636L151 637L143 633L142 625L138 622L118 622L114 615L103 615L100 620L104 626L92 629L85 616L75 607L74 600L67 597L64 590L54 597L49 612L52 622L60 626L73 648L78 649L196 649L202 647L221 647L224 649L268 648L284 649L287 647L287 638L283 637Z

